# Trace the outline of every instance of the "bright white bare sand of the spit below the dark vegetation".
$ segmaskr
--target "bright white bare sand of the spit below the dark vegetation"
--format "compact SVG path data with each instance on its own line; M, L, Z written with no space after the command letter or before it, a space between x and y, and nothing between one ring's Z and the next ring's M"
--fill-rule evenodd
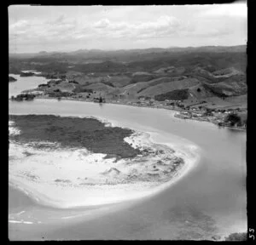
M115 124L103 118L93 118L100 119L108 127ZM13 122L9 123L9 133L19 134ZM148 133L133 134L125 141L134 147L150 146L165 152L114 163L114 158L103 159L104 154L91 153L86 149L47 152L35 150L32 145L10 142L9 183L16 187L18 184L22 191L27 191L38 202L55 208L103 205L154 195L181 179L199 157L189 155L189 151L195 149L187 149L187 152L175 149L173 152L175 144L156 143ZM165 157L169 157L169 166L165 164ZM184 162L173 165L173 159L183 159Z

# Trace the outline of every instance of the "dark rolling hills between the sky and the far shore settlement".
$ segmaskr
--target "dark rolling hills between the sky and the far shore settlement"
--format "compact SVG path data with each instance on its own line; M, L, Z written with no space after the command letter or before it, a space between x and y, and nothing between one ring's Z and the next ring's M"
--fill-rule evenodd
M247 94L246 67L246 46L84 49L10 54L9 59L9 73L36 70L42 72L37 76L62 80L45 87L47 93L59 89L90 100L104 96L107 100L175 98L200 103L241 96Z

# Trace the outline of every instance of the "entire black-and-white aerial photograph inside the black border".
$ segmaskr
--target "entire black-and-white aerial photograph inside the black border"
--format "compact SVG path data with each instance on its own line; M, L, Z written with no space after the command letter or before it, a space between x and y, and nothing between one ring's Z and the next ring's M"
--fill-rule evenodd
M247 240L247 2L9 5L9 241Z

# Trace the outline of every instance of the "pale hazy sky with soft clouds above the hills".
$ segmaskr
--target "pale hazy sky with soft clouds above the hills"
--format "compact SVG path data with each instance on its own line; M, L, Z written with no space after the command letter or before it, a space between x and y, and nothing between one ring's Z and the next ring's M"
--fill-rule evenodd
M9 52L247 43L247 3L9 6Z

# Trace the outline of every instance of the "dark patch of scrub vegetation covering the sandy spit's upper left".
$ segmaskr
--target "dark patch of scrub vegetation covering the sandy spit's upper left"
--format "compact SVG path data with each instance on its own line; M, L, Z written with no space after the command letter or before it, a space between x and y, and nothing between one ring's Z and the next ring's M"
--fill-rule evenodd
M10 140L20 143L42 141L57 142L61 147L86 148L94 153L107 154L106 157L137 157L141 151L134 149L124 138L134 132L128 128L106 127L94 118L58 117L53 115L10 115L20 134L10 135Z

